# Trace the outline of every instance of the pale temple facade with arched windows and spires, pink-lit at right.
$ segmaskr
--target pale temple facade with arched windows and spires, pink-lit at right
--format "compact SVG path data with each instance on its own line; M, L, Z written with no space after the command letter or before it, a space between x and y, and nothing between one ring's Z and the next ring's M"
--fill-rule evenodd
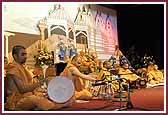
M76 13L72 14L68 12L73 11L72 8L69 10L65 5L53 4L48 9L48 14L38 20L37 28L40 30L40 36L27 46L29 53L27 63L33 62L32 51L44 46L54 52L55 62L58 62L60 40L63 40L67 47L73 43L77 52L94 49L100 59L109 59L115 47L119 45L116 11L95 4L79 4L75 8ZM6 56L10 59L11 50L8 52L9 55Z

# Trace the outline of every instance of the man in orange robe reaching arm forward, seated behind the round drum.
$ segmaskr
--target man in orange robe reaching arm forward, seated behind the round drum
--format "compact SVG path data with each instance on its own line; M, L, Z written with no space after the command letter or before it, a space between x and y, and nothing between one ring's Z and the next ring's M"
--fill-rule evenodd
M92 98L92 94L85 88L83 79L94 81L96 80L97 75L82 74L79 71L81 64L81 57L79 55L75 55L72 58L71 63L68 64L61 73L61 76L66 76L73 81L75 86L75 99L88 100Z

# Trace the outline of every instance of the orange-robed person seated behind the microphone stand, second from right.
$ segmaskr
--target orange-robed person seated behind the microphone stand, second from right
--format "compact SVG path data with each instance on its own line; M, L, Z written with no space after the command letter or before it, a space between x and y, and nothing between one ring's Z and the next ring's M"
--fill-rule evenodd
M121 63L121 67L118 70L118 74L121 78L125 78L127 80L136 81L138 78L140 78L138 75L133 74L133 72L129 69L128 63Z

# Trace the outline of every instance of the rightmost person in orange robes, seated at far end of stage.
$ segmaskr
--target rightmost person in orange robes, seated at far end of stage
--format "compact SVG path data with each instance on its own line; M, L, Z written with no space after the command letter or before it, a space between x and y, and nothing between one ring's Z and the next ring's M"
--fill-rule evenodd
M149 65L147 68L148 82L150 84L158 84L164 82L163 72L158 70L157 65Z

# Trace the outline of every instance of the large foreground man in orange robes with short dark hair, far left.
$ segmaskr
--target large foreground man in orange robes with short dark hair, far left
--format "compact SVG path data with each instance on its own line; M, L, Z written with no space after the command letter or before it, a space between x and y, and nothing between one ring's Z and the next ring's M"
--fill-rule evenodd
M71 104L72 100L64 104L58 104L41 96L36 96L34 90L47 80L32 83L32 76L24 67L26 62L26 50L17 45L12 49L14 61L8 65L7 70L7 102L6 110L50 110L59 109Z

